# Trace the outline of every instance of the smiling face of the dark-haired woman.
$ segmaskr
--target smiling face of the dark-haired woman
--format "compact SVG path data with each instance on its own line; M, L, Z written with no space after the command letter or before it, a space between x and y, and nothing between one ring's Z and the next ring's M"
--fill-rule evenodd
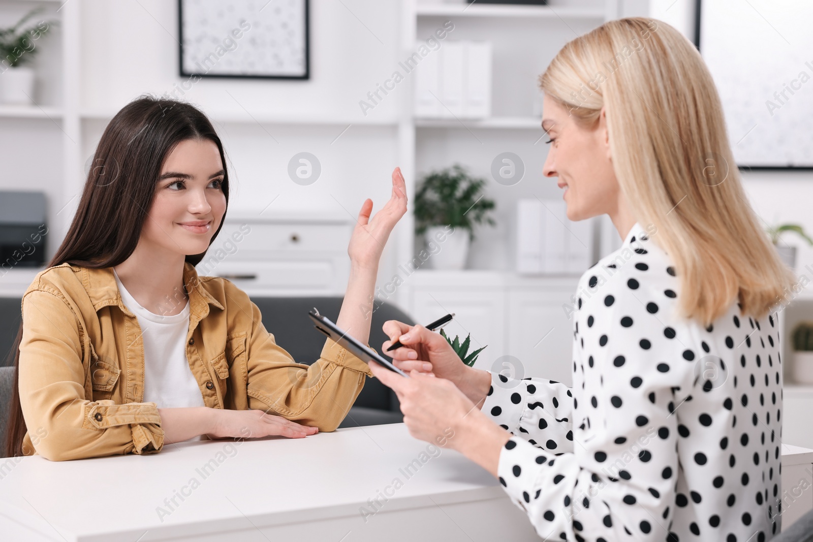
M180 141L163 164L140 242L184 256L204 252L226 210L223 176L213 141Z

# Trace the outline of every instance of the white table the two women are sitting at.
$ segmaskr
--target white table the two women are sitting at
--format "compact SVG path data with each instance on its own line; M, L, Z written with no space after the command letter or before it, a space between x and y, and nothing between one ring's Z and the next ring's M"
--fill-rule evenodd
M813 450L783 444L783 492L800 489L785 527L813 508L811 464ZM402 423L146 456L3 458L0 539L539 540L491 475Z

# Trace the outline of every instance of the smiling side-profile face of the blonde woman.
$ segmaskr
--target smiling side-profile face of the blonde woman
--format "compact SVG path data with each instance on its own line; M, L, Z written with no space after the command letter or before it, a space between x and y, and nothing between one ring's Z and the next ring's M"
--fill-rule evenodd
M542 173L559 178L567 218L584 220L612 214L619 205L620 188L612 167L604 112L595 126L586 128L547 94L542 98L542 111L542 128L550 140Z

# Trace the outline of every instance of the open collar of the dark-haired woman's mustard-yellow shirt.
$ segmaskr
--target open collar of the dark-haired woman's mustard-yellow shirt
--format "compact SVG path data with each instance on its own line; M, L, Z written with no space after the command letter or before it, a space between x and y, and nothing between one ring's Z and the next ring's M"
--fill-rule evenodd
M124 301L121 301L119 285L115 282L112 267L98 269L82 267L81 269L82 284L87 290L90 301L93 302L94 310L99 310L103 306L116 305L124 314L135 317L135 314L124 305ZM184 286L189 293L190 310L197 314L203 314L204 311L208 313L210 303L220 310L224 310L220 301L217 301L206 288L203 288L202 281L198 279L198 271L189 262L184 262Z

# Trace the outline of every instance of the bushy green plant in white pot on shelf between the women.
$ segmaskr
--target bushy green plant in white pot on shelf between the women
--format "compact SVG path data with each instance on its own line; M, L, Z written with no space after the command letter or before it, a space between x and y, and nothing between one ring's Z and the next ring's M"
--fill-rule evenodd
M459 164L421 181L415 194L415 233L424 235L429 246L442 243L431 258L434 269L463 269L474 227L496 224L489 216L496 205L482 193L484 186L484 179L469 176Z

